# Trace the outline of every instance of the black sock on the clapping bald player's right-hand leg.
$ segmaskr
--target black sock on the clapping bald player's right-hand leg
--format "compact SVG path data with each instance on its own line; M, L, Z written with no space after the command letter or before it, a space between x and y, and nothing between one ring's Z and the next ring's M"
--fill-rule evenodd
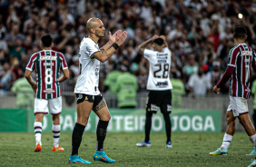
M103 142L106 137L108 123L109 123L108 121L99 120L97 131L96 131L97 151L103 151Z

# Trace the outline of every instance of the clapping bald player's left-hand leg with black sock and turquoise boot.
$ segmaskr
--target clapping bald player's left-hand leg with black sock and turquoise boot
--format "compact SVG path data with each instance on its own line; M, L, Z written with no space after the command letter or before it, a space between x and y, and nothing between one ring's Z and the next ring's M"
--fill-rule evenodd
M93 104L89 101L84 101L82 103L76 104L77 120L74 125L74 130L72 134L72 150L69 158L70 163L92 163L83 160L78 156L78 149L80 147L82 136L84 134L84 129L88 123L89 115L92 111Z

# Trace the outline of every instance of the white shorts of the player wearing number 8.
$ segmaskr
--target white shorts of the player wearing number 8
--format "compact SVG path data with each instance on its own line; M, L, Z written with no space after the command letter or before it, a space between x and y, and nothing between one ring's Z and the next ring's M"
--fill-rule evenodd
M48 106L52 114L62 113L62 97L54 99L34 99L34 114L44 113L48 114Z

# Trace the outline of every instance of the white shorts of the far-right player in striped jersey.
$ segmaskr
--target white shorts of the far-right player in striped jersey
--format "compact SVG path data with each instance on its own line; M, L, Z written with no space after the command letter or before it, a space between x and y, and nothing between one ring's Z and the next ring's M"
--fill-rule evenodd
M249 113L247 99L230 96L230 103L227 111L231 111L234 117Z

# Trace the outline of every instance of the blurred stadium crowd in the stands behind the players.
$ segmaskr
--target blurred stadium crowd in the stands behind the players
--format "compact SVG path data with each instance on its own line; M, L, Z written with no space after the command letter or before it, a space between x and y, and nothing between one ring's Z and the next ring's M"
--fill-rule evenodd
M54 50L62 52L69 65L71 78L62 90L73 92L86 21L98 17L106 28L100 46L108 41L108 31L128 33L125 44L101 64L101 92L109 90L105 78L116 70L133 74L138 92L145 91L148 64L138 45L163 34L172 51L171 77L182 81L186 94L204 96L225 71L235 26L247 28L247 42L256 49L255 14L256 0L1 0L0 94L24 76L28 59L40 50L40 37L46 33L53 35ZM228 93L228 87L222 93Z

